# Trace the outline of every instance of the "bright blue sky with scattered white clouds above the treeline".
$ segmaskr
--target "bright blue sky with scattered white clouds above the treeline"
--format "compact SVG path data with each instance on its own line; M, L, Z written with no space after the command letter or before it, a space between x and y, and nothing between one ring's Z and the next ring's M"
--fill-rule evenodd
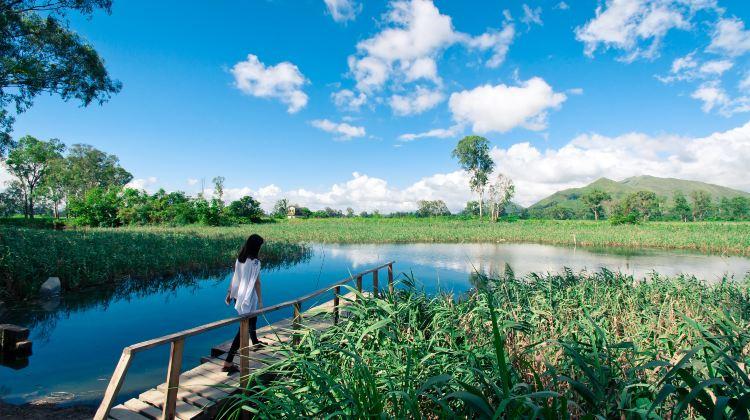
M39 98L14 134L114 153L148 190L222 175L266 207L458 209L472 133L523 204L644 173L750 190L746 22L741 0L120 0L71 27L122 92Z

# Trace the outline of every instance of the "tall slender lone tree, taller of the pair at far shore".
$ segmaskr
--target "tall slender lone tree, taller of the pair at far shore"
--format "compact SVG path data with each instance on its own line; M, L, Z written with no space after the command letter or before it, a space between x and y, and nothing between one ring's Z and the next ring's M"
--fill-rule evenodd
M490 146L486 138L480 136L466 136L453 150L452 156L458 159L461 167L471 177L469 186L473 192L479 194L479 202L484 203L484 188L489 175L495 167L490 157ZM479 218L482 218L482 207L479 206Z

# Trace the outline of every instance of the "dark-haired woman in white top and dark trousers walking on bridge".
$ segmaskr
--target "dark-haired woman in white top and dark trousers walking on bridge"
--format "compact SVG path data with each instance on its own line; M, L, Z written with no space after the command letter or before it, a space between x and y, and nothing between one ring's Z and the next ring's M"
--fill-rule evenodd
M234 308L240 315L248 314L263 307L263 297L260 292L260 261L258 260L261 245L263 245L263 238L256 234L250 235L245 241L245 245L240 249L237 261L234 263L234 275L224 301L229 305L234 299ZM261 346L255 332L257 323L257 317L250 318L250 340L256 348ZM232 346L229 348L222 369L230 375L239 371L232 362L239 348L240 332L238 331L237 335L234 336L234 341L232 341Z

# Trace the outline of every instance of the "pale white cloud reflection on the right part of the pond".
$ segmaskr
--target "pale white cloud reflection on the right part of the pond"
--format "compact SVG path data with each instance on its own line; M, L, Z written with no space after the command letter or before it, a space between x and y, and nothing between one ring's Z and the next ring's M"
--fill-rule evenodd
M666 276L689 274L715 280L728 273L743 277L750 259L678 251L637 250L608 254L601 250L575 249L539 244L366 244L322 245L334 259L345 259L354 268L395 260L402 270L431 269L459 273L499 273L509 264L518 275L574 272L607 268L644 277L651 272Z

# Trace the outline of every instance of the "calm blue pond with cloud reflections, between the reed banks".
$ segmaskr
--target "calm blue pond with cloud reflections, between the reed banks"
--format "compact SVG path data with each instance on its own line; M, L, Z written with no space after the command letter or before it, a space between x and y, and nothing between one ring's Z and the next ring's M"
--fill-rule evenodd
M575 249L537 244L311 245L312 253L291 266L263 273L266 305L282 302L388 260L395 272L410 273L429 293L470 288L475 270L501 272L506 263L517 275L530 272L597 271L606 267L643 277L679 273L715 281L750 272L750 259L655 250ZM384 278L385 273L381 274ZM223 298L231 273L123 284L114 291L88 290L58 301L0 309L0 323L31 329L33 355L27 366L0 366L0 399L11 403L47 400L97 405L123 347L235 315ZM369 278L365 285L369 286ZM383 284L383 280L381 280ZM330 299L323 295L322 303ZM270 314L261 324L289 317ZM234 336L236 327L191 337L183 369L200 362L209 349ZM164 381L168 346L135 357L120 401Z

